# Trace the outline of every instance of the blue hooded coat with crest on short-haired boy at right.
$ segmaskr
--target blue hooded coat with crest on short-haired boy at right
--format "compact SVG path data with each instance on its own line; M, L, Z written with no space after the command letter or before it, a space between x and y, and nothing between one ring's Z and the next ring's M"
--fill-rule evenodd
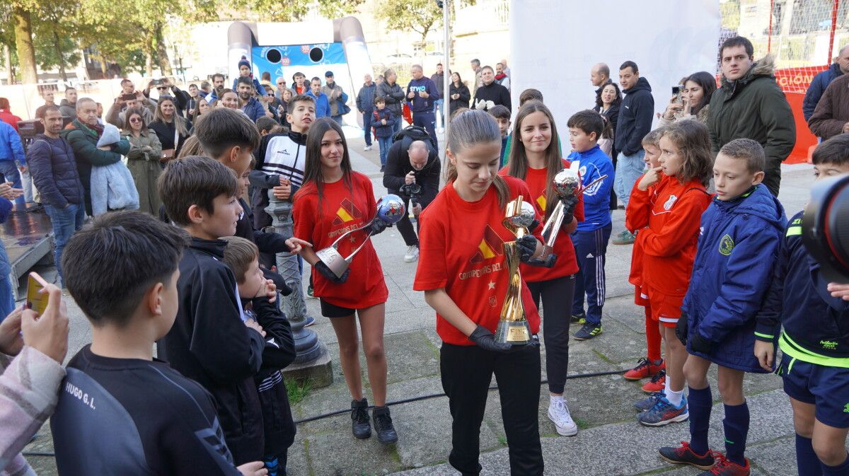
M694 333L711 342L711 354L687 350L722 367L765 372L754 356L760 310L787 222L784 208L763 184L739 199L713 199L701 216L683 311Z

